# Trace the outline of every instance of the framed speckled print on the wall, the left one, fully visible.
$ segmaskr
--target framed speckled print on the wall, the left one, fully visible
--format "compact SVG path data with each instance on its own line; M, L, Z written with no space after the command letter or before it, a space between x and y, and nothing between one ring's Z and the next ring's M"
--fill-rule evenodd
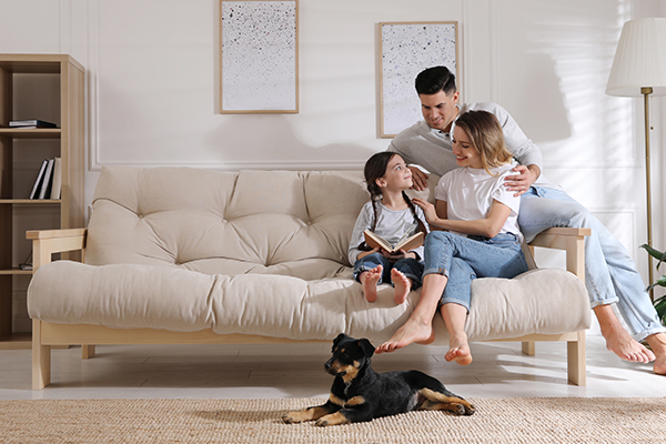
M299 112L299 0L220 0L220 113Z

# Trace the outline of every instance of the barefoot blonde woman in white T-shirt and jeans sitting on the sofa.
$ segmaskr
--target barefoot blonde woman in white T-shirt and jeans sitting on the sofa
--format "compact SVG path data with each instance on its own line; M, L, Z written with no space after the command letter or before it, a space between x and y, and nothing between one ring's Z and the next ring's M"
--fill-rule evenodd
M450 336L446 361L467 365L472 354L465 334L472 280L514 278L527 271L521 250L519 198L503 185L515 167L504 145L502 127L486 111L468 111L455 122L453 153L458 169L442 176L436 206L421 199L434 229L425 240L425 271L421 300L407 322L377 353L413 342L434 340L433 316L441 309Z

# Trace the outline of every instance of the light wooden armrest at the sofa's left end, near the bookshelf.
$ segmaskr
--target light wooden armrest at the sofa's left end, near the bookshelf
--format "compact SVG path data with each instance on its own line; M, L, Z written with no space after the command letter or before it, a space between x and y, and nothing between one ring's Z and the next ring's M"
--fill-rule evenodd
M32 240L32 270L52 261L54 253L69 251L85 252L87 229L27 231L26 238Z

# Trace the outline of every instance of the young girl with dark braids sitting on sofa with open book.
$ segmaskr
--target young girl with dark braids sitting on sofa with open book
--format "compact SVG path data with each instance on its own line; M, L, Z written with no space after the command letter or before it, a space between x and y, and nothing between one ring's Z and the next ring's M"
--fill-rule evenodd
M365 163L365 182L371 201L363 205L350 242L349 259L354 279L363 286L367 302L377 299L376 286L392 282L396 304L405 302L410 291L421 286L423 246L390 254L365 245L363 232L370 230L393 245L401 239L427 232L421 208L414 206L405 190L412 186L412 172L400 154L380 152Z

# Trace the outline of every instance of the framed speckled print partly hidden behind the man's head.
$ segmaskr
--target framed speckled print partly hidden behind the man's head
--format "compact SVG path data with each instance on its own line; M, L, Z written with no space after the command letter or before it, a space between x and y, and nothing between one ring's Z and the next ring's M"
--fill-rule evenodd
M414 89L426 68L445 65L461 87L457 21L382 22L380 40L380 137L394 138L421 119Z

